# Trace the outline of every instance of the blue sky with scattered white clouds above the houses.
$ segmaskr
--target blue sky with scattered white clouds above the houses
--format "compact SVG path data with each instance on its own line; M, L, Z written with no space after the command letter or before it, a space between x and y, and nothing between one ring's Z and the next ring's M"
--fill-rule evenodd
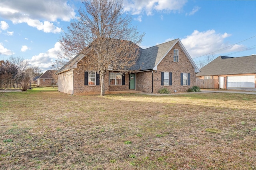
M42 72L78 16L80 0L0 0L0 60L21 57ZM254 0L124 0L146 49L179 38L196 64L206 56L256 55Z

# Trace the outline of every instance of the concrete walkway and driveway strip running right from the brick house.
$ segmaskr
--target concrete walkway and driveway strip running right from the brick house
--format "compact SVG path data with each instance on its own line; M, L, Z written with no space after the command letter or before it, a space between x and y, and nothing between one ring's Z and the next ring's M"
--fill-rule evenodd
M178 95L178 94L200 94L200 93L240 93L240 94L254 94L256 95L255 92L248 92L248 91L231 91L231 90L201 90L201 92L184 92L184 93L170 93L170 94L159 94L159 93L138 93L138 94L147 94L147 95L152 95L152 96L166 96L166 95Z

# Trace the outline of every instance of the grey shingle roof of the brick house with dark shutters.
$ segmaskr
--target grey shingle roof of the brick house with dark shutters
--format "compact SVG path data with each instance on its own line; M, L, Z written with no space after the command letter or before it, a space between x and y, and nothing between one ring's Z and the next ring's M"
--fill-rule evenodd
M142 49L140 48L140 56L131 68L128 70L156 70L158 64L164 59L164 57L169 53L169 51L174 47L174 45L178 43L184 51L185 55L188 57L190 63L194 67L195 72L199 72L198 67L194 63L193 59L190 57L185 47L182 45L180 39L174 39L172 41L168 41L166 43L162 43L159 45L155 45L153 47ZM76 64L84 58L85 55L78 54L72 60L70 60L65 66L63 66L60 70L56 72L56 74L60 74L62 72L68 71L72 68L76 68Z

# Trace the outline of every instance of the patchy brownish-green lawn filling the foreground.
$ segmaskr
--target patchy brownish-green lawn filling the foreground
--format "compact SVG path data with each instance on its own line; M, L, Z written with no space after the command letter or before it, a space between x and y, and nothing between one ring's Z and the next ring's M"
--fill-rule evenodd
M0 93L0 169L256 169L256 95Z

